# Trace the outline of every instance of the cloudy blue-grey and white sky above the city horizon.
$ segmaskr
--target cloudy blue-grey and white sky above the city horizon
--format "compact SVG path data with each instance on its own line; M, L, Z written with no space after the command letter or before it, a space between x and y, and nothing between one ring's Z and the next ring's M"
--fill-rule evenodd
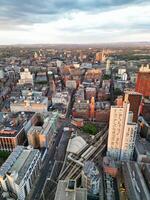
M0 45L150 41L150 0L0 0Z

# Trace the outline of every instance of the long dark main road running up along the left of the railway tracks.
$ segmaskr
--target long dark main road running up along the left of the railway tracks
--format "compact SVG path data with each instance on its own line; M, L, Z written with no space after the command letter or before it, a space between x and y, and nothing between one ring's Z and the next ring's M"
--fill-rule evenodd
M62 169L67 144L70 138L69 133L67 134L64 132L63 128L70 125L69 118L72 112L75 92L76 90L71 92L71 100L68 105L66 121L62 123L61 128L59 128L58 133L56 134L56 138L54 139L52 147L47 152L46 159L40 171L39 177L37 178L36 184L34 185L27 200L39 200L39 194L45 196L44 199L49 199L50 191L54 191L57 187L57 182L55 182L55 180L57 180ZM51 199L52 198L54 197L51 196Z

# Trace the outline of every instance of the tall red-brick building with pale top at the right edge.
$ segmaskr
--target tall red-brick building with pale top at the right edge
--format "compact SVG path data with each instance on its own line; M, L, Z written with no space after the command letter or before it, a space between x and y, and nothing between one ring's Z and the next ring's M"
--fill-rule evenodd
M150 65L142 65L136 81L136 92L142 93L144 97L150 96Z

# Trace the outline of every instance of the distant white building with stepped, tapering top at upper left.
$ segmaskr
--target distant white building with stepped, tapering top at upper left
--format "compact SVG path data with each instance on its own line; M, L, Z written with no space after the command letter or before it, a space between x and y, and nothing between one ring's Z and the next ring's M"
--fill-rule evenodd
M33 85L33 74L29 71L28 68L25 68L23 72L20 72L19 85L23 84L32 84Z

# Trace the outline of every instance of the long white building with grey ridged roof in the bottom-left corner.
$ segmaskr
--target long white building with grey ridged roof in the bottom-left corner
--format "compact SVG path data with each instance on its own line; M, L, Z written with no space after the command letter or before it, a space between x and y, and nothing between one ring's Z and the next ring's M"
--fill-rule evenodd
M40 164L39 150L17 146L0 168L3 191L12 192L18 200L24 200L30 193Z

